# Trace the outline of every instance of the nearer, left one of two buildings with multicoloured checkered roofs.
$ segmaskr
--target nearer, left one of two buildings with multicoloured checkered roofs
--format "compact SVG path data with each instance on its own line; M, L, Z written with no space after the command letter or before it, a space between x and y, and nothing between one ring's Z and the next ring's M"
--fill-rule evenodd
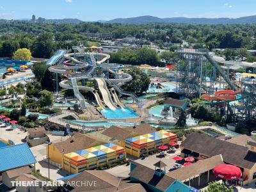
M64 154L62 167L70 173L79 173L125 159L125 148L107 143Z

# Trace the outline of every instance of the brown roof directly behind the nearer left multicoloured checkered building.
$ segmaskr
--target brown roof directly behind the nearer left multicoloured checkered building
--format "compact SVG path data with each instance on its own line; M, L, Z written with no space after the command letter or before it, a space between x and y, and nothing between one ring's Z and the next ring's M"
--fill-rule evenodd
M74 140L72 140L72 137L74 137ZM54 146L58 148L58 150L63 154L68 154L70 152L74 152L77 150L81 150L84 148L90 148L93 143L97 141L97 144L105 144L103 141L95 140L94 138L91 138L89 136L86 136L85 134L81 133L75 133L74 136L68 138L65 141L60 141L58 143L54 143Z

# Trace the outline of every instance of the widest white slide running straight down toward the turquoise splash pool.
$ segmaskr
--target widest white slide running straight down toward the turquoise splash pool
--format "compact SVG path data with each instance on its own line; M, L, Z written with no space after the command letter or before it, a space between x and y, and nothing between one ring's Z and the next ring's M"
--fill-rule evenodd
M111 95L109 93L108 87L106 82L104 81L104 79L102 78L95 78L95 80L98 83L99 86L99 90L100 93L102 95L102 99L104 100L104 103L106 104L106 106L108 106L109 109L116 109L117 106L115 105L115 103L113 102Z

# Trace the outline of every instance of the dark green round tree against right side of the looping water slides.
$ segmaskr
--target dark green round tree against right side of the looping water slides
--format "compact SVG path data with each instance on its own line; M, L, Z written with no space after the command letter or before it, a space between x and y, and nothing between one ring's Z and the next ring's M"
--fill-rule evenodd
M139 68L132 68L127 72L132 76L132 80L124 84L125 90L133 93L143 93L148 90L150 78Z

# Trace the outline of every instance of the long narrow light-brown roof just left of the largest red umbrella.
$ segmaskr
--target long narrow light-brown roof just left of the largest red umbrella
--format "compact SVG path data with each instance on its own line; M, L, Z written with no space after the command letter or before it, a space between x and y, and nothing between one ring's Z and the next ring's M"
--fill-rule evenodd
M223 164L221 155L209 157L202 161L190 164L189 166L184 166L177 170L173 170L172 172L168 172L166 173L166 175L178 180L186 180L189 178L193 178L201 173L212 170L214 166L217 166L219 164Z

